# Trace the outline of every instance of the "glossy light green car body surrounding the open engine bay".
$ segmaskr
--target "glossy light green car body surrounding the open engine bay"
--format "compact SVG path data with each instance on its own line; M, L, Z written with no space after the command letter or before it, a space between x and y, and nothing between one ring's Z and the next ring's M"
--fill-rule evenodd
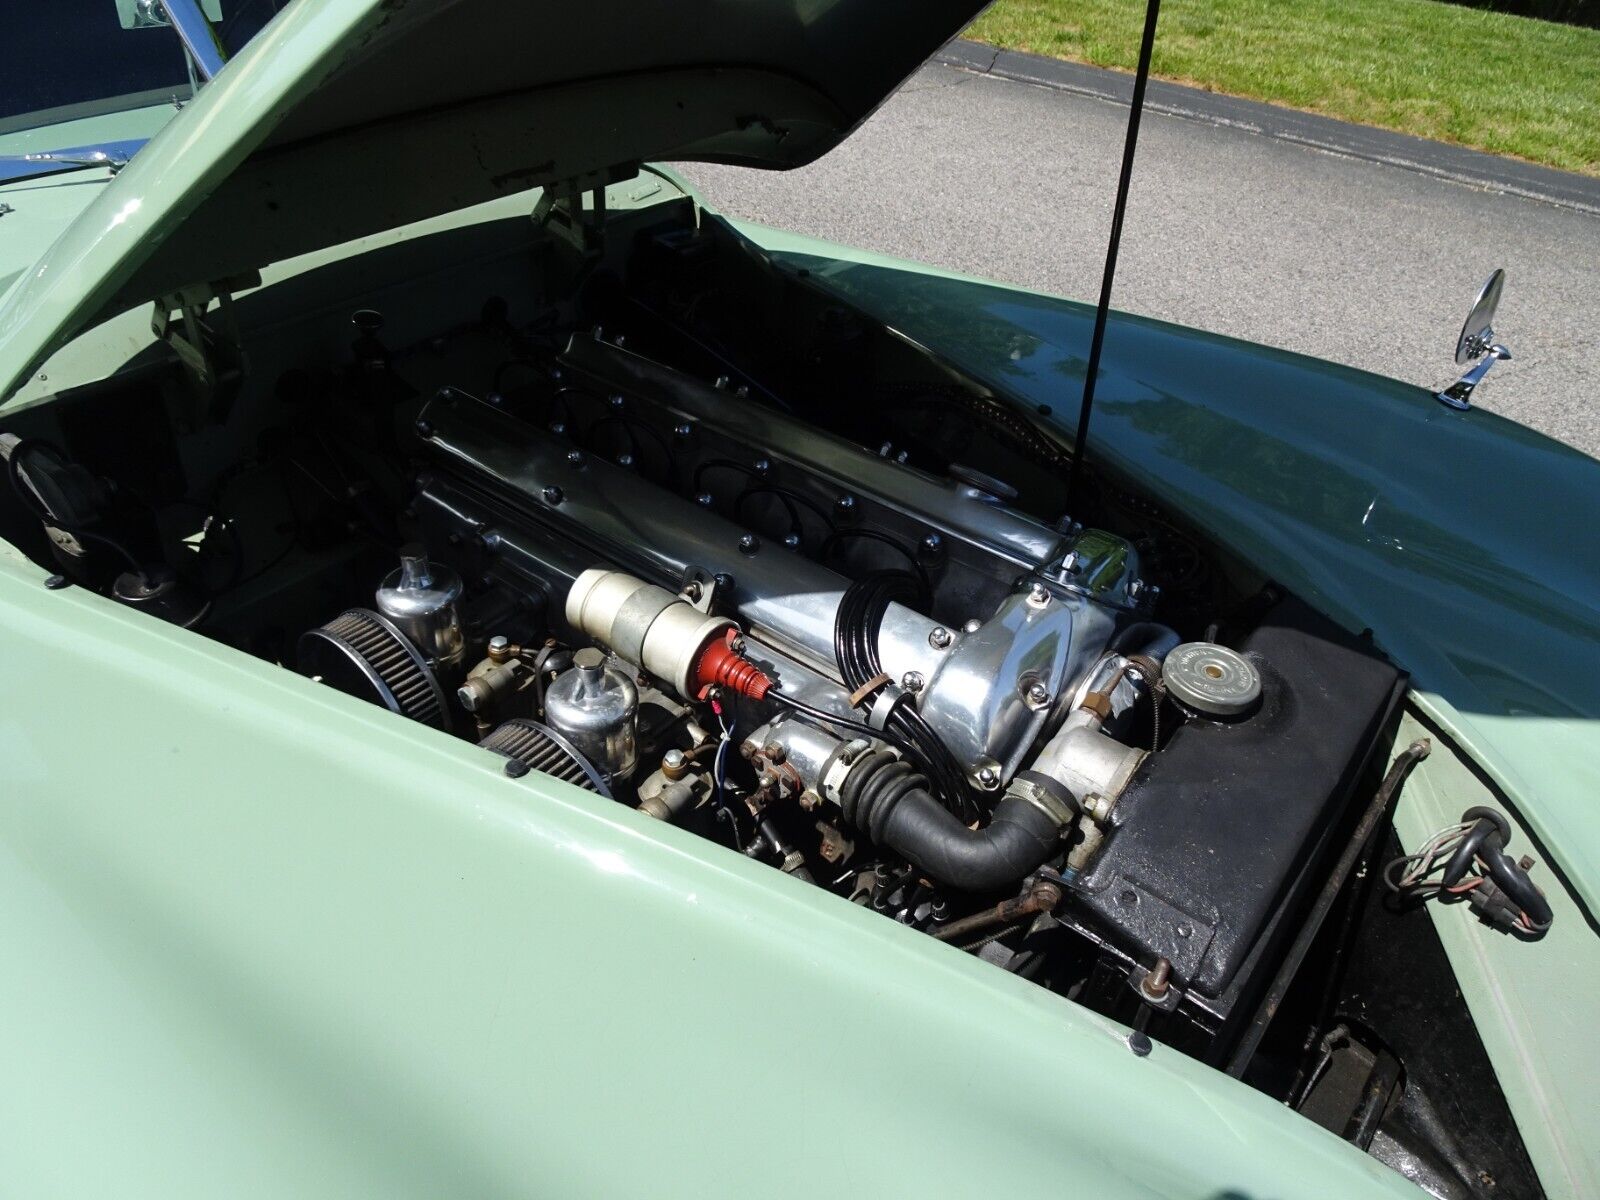
M291 6L114 181L0 189L0 397L150 344L142 310L83 326L378 8ZM742 230L1022 400L1075 395L1082 306ZM1493 798L1560 867L1542 942L1435 923L1547 1192L1600 1195L1600 464L1138 318L1107 362L1098 458L1413 672L1402 744L1435 754L1402 838ZM970 955L45 576L0 544L8 1195L1416 1194Z

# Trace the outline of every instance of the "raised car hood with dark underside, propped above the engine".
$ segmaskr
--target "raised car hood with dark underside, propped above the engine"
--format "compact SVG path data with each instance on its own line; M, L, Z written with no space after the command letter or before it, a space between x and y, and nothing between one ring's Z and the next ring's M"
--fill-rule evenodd
M0 397L88 325L437 213L650 160L805 165L982 0L301 0L0 307Z

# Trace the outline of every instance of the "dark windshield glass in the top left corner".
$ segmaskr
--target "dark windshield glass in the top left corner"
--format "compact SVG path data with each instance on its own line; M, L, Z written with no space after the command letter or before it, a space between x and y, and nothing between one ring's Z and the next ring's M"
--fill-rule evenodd
M222 0L222 45L237 53L286 5ZM118 8L134 6L136 0L51 0L13 14L0 38L0 133L187 99L178 34L160 26L123 29Z

